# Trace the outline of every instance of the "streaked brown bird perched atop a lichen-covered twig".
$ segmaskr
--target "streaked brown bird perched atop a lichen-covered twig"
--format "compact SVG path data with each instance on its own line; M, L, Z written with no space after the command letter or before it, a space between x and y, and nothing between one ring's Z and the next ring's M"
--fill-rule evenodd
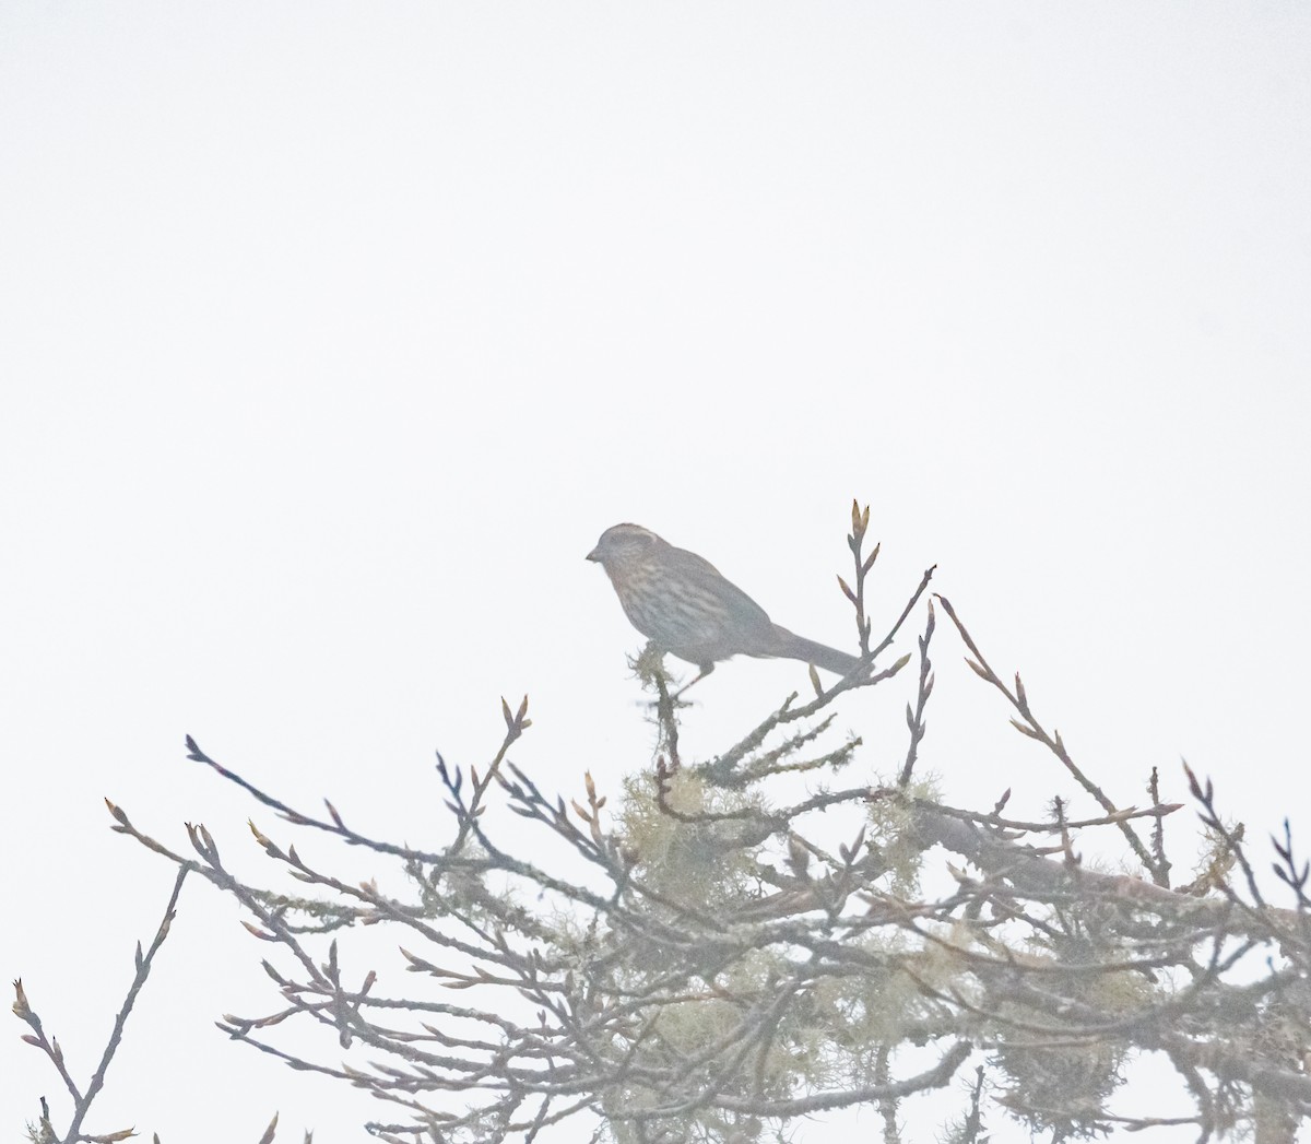
M697 680L730 656L801 660L839 676L860 666L856 656L779 627L709 560L640 525L606 529L587 559L606 569L632 626L661 651L700 668Z

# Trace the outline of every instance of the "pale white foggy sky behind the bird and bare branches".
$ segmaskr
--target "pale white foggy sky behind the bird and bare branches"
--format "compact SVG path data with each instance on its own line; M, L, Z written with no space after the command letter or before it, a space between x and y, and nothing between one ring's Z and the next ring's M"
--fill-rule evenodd
M1113 796L1186 756L1311 845L1308 52L1291 3L5 0L0 977L85 1076L172 880L101 798L288 837L187 732L435 846L433 749L485 760L527 691L515 760L617 792L650 752L597 534L850 643L853 496L881 615L936 562ZM1071 792L936 661L947 799ZM725 665L686 750L798 686ZM905 698L844 708L864 774ZM266 952L187 887L93 1131L359 1139L379 1107L214 1031ZM10 1135L60 1094L22 1031Z

